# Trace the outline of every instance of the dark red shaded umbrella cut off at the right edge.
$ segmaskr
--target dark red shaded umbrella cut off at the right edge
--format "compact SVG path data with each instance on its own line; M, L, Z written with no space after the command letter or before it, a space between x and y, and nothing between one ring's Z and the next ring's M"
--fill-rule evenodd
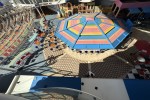
M145 41L145 40L138 40L135 43L135 47L139 50L139 51L143 51L146 54L150 55L150 42Z

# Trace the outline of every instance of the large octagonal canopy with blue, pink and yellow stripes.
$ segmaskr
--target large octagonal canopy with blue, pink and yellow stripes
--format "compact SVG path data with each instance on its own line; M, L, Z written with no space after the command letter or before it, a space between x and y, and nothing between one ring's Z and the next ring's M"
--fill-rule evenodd
M104 14L76 14L62 20L55 35L71 49L114 49L128 35L121 20Z

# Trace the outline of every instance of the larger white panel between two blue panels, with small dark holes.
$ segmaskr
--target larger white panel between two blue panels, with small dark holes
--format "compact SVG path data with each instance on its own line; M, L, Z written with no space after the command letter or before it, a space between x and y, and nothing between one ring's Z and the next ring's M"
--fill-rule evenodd
M103 100L129 100L125 85L121 79L82 78L81 90L91 93ZM95 87L98 87L96 90Z

